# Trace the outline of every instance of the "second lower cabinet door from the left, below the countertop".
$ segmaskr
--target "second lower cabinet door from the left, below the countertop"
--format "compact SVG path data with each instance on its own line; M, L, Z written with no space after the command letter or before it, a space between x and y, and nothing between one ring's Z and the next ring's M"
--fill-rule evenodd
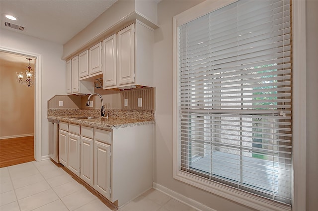
M68 138L68 169L79 176L79 135L69 133Z

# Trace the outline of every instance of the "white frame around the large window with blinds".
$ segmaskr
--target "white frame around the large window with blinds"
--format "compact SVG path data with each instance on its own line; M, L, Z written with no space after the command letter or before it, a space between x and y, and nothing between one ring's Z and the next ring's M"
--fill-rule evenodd
M178 169L178 27L237 0L209 1L173 17L173 178L257 210L290 210L269 200L227 185L191 176ZM292 0L293 33L293 155L292 209L306 208L306 1Z

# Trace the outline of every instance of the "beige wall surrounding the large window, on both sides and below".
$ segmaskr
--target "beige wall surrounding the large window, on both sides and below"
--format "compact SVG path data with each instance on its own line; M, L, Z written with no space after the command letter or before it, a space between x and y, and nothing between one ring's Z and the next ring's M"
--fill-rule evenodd
M248 211L222 197L172 178L172 17L198 0L162 0L155 30L154 83L156 87L156 144L154 181L217 211ZM318 207L318 1L307 0L307 209ZM310 22L310 23L309 23ZM310 89L310 90L309 90ZM315 97L313 97L315 96ZM304 210L305 211L305 210Z

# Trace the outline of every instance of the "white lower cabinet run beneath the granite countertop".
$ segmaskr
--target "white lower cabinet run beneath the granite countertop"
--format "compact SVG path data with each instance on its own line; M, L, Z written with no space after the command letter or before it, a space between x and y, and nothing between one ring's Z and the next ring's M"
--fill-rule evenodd
M60 162L114 205L152 188L152 124L106 130L70 123L65 130Z

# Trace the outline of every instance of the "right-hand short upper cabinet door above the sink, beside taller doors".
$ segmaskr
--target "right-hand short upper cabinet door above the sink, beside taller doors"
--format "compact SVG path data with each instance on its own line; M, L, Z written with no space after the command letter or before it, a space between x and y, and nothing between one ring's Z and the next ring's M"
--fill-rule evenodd
M89 49L89 75L101 73L101 43Z

